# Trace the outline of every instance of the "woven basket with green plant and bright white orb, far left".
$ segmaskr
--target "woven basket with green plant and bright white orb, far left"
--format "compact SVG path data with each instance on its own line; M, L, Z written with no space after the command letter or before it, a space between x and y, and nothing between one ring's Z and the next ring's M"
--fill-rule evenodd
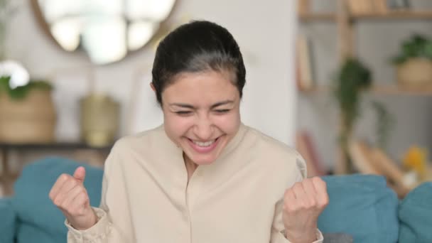
M0 63L0 141L13 144L54 140L56 114L52 87L29 80L18 63Z

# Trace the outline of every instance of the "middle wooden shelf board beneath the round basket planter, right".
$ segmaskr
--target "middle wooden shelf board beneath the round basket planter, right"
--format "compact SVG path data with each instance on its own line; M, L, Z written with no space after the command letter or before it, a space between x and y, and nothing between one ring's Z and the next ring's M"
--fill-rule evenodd
M301 90L305 95L316 95L320 93L330 92L328 86L317 86L310 90ZM402 87L399 85L374 85L371 90L372 94L376 95L416 95L416 96L432 96L432 85L428 87L412 88Z

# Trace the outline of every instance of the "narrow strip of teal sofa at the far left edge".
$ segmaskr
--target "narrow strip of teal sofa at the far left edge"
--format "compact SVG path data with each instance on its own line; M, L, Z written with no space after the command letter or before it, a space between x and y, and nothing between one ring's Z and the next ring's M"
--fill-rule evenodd
M16 213L10 198L0 198L0 242L13 243L16 231Z

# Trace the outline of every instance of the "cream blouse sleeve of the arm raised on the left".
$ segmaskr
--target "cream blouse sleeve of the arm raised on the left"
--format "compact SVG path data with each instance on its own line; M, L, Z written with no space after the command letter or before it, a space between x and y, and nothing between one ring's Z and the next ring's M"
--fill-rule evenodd
M117 145L117 144L116 144ZM129 210L126 202L126 190L122 183L119 156L116 146L112 148L105 162L102 181L102 198L99 207L93 207L98 221L90 229L77 230L66 220L68 227L68 243L132 243L134 240L132 226L129 222ZM113 173L115 172L115 173Z

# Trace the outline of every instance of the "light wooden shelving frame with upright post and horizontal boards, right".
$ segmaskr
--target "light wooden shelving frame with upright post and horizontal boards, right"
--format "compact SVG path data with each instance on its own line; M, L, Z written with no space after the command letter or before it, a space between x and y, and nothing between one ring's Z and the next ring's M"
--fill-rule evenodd
M335 13L314 13L303 12L298 16L301 23L334 23L338 35L336 41L338 44L338 62L342 63L343 60L350 57L355 57L355 24L360 21L429 21L432 20L432 10L404 10L395 11L389 10L385 13L350 13L348 0L337 0L337 9ZM377 84L377 82L374 82ZM309 90L300 90L304 95L316 95L325 92L330 92L328 86L312 87ZM410 88L401 87L396 85L374 85L369 92L372 95L411 95L411 96L432 96L431 87ZM340 124L343 121L340 120ZM340 125L339 129L342 129ZM347 173L347 156L342 153L339 148L339 156L335 164L335 173Z

